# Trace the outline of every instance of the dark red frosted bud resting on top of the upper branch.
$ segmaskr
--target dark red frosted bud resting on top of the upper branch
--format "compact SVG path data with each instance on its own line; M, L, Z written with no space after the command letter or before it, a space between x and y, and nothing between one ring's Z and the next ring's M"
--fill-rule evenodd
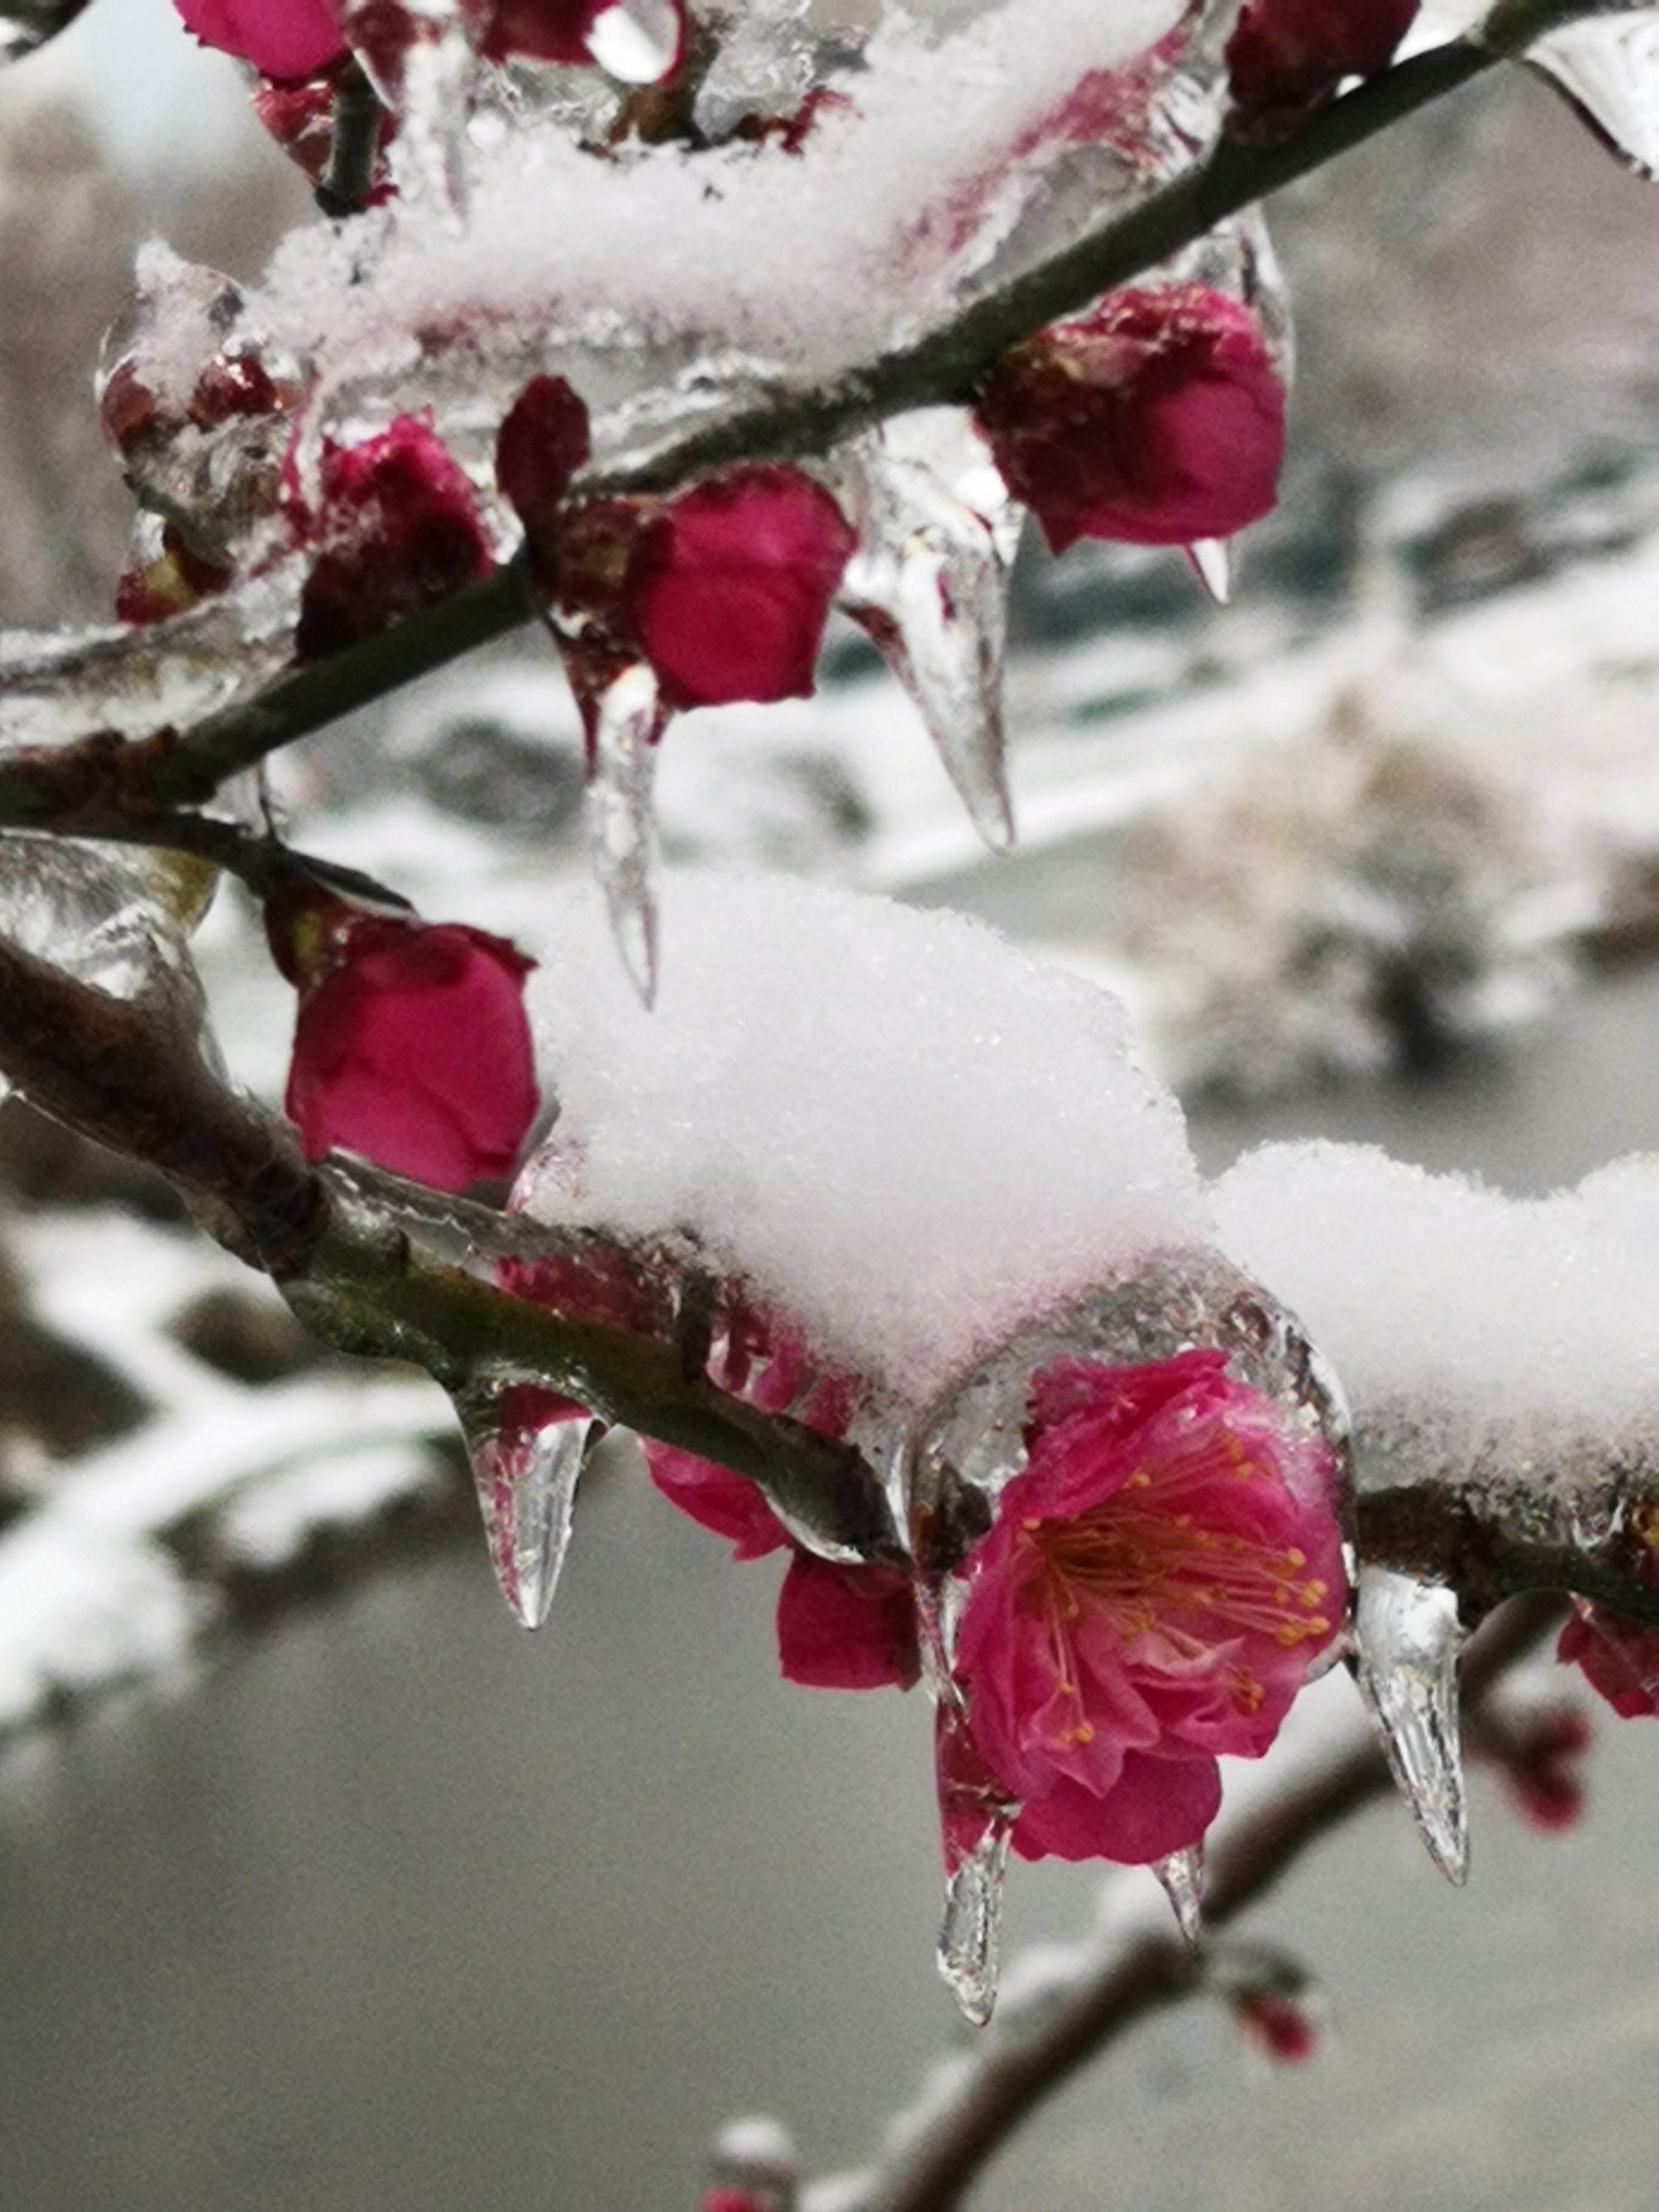
M319 546L294 650L321 659L487 575L493 555L473 487L427 416L398 416L363 445L327 445L316 513L294 520Z

